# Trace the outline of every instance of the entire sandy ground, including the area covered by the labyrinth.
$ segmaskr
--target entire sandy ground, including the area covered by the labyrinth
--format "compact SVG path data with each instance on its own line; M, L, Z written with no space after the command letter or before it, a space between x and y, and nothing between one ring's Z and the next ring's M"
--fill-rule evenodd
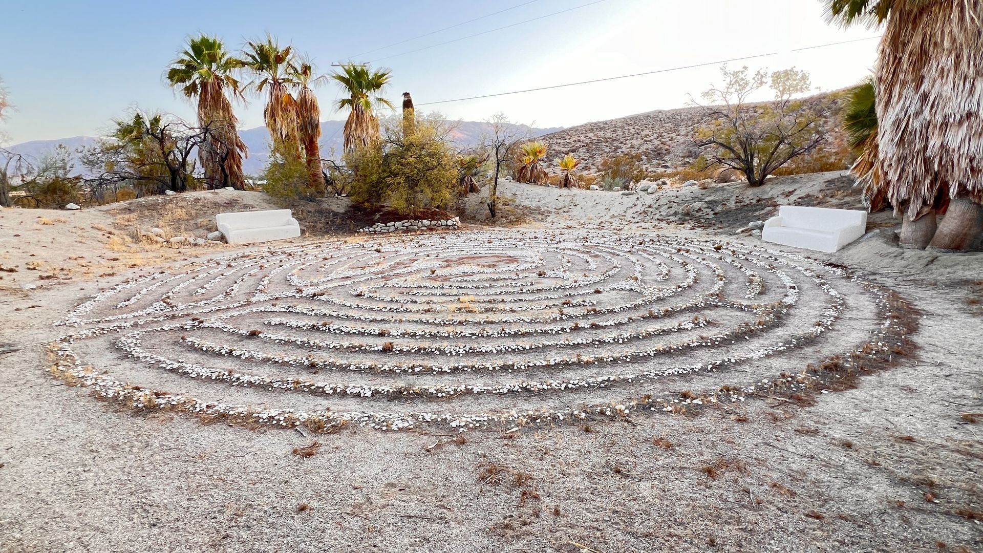
M458 233L254 248L141 232L258 193L0 212L0 551L983 551L983 253L899 250L890 214L766 248L740 229L855 196L742 186L503 183L507 228L475 199Z

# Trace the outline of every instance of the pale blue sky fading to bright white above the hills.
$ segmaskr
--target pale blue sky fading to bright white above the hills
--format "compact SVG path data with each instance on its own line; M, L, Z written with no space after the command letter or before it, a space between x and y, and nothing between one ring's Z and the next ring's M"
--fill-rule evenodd
M134 106L193 118L193 105L166 87L163 77L187 35L198 32L217 34L238 48L245 38L269 31L308 52L322 72L338 60L385 58L374 65L392 69L386 95L397 105L404 91L420 104L770 52L780 53L731 66L794 65L812 75L814 87L834 90L868 72L877 40L790 50L879 33L828 25L821 0L602 0L409 52L596 0L9 1L0 33L0 78L16 106L0 123L9 144L97 135ZM513 6L520 7L360 55ZM683 106L688 94L698 96L718 72L717 66L684 69L426 109L466 120L503 111L515 121L568 127ZM344 117L330 106L338 97L333 84L319 89L318 97L324 119ZM258 98L239 105L237 113L244 128L262 124Z

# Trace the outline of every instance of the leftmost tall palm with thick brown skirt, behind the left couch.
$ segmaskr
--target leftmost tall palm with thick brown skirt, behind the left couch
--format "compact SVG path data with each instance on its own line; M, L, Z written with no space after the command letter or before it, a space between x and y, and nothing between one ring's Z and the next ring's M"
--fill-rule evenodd
M198 98L198 124L212 139L199 150L204 177L213 188L243 189L246 145L239 138L238 120L230 98L242 97L236 71L242 61L225 50L222 41L204 34L188 38L188 47L171 62L167 82L189 98Z

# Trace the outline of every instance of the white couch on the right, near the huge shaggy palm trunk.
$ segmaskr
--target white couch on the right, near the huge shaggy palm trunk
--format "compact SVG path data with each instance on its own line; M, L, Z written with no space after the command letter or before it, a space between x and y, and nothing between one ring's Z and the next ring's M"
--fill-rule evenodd
M782 206L765 221L761 239L785 246L836 252L863 236L867 212Z

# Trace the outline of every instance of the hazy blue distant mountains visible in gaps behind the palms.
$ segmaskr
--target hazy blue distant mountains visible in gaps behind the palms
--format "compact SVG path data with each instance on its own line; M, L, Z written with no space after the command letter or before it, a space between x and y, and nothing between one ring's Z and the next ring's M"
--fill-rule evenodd
M468 148L477 145L482 135L489 129L488 124L481 121L451 121L451 123L456 126L451 133L451 141L458 148ZM320 124L320 152L322 157L338 157L341 154L344 143L342 135L342 128L344 126L344 121L324 121ZM534 137L543 136L562 129L562 127L540 129L527 125L521 126L529 131L530 136ZM250 175L259 175L269 160L269 133L265 127L256 127L254 129L240 131L239 136L249 149L249 157L243 161L243 170ZM57 140L35 140L11 146L7 150L17 154L29 155L36 159L43 154L53 151L58 145L64 145L74 152L80 148L95 144L97 140L95 137L87 136ZM81 173L81 164L76 163L75 170L77 173Z

